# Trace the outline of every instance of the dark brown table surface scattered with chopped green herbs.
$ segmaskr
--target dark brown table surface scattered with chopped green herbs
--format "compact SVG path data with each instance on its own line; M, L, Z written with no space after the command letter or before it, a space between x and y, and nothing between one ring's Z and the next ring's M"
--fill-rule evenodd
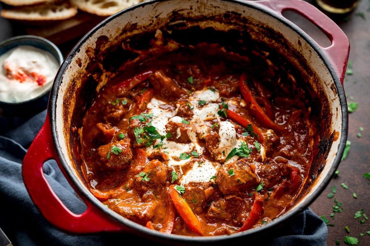
M312 0L307 1L313 3ZM315 37L312 27L294 16L289 18ZM350 63L344 79L347 101L357 103L358 107L349 114L350 149L339 165L339 174L330 181L310 208L317 215L324 216L330 224L327 245L336 245L336 241L346 245L344 237L351 236L358 239L358 245L369 246L370 235L366 232L370 233L370 219L367 219L370 218L370 179L364 177L364 174L370 173L370 1L360 0L359 6L351 14L336 19L336 22L346 33L351 46ZM0 17L0 41L22 34L27 34L24 25ZM317 39L320 37L317 36ZM78 40L74 38L58 45L64 56ZM328 198L330 193L333 196ZM336 205L340 206L333 209ZM357 211L360 211L360 218L355 218Z

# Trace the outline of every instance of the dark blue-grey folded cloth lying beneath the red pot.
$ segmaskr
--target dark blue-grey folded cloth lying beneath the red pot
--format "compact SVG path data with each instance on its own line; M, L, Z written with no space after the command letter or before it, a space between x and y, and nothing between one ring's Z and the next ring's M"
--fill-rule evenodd
M149 239L122 233L94 235L68 235L51 225L31 200L24 186L21 166L27 148L40 130L46 110L29 119L0 117L0 228L14 246L36 245L116 245L131 237L135 243L157 245ZM11 122L11 124L9 123ZM65 179L54 160L47 161L43 170L55 193L74 213L85 211L86 205ZM266 246L324 246L327 226L307 208L292 221L277 229L275 236L264 237L258 242L246 243Z

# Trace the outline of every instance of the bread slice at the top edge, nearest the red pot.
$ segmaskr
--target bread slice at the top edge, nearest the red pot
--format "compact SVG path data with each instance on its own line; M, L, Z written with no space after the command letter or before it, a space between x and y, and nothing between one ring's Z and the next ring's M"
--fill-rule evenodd
M144 0L71 0L79 9L100 16L115 14Z

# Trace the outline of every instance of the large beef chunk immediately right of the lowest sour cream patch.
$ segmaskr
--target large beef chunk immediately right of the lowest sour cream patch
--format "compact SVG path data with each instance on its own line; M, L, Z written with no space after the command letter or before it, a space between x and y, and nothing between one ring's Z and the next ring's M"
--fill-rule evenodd
M260 182L252 165L244 159L223 164L216 173L215 181L223 194L245 192Z

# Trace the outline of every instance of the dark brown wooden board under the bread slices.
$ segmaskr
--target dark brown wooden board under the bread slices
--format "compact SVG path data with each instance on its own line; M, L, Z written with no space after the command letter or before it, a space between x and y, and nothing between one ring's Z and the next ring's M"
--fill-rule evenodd
M55 45L82 37L107 17L101 17L79 11L73 18L43 26L28 26L29 35L46 38Z

